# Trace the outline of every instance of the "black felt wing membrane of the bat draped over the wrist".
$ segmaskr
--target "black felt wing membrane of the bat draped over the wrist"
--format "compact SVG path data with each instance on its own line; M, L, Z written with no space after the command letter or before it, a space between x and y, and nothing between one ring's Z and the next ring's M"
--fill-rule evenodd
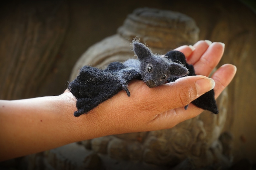
M74 116L77 117L113 97L122 90L122 85L114 71L84 66L69 84L68 89L77 99L77 111L74 112Z

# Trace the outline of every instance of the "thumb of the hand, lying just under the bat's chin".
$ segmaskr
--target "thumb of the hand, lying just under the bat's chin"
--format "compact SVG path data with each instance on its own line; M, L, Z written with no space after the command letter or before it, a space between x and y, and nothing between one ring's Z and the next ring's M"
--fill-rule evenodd
M186 76L175 82L153 88L147 97L154 101L154 110L165 112L191 103L215 86L213 79L206 76ZM148 101L149 102L149 101Z

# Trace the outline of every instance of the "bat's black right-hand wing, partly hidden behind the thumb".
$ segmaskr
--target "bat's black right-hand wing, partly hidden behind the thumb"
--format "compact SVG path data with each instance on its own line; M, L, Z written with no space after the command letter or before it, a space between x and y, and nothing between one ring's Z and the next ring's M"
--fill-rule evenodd
M169 58L170 60L176 62L176 63L181 63L186 65L186 67L189 70L189 74L187 76L195 76L195 70L193 65L188 64L186 62L186 58L184 56L184 54L180 51L169 51L165 54L166 58ZM178 79L179 77L169 77L168 81L172 82L175 81L176 79ZM213 112L214 114L218 114L218 107L217 107L217 103L216 100L214 98L214 91L213 89L205 94L203 94L202 96L200 96L199 98L195 99L194 101L192 101L192 103L197 106L200 107L204 110L208 110ZM185 108L187 108L187 106L185 106Z

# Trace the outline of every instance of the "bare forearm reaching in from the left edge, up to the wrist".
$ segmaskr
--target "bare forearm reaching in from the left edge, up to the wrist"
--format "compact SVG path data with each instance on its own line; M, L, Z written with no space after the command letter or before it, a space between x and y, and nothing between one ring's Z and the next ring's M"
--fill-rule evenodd
M56 148L79 138L71 97L2 100L0 107L0 160Z

